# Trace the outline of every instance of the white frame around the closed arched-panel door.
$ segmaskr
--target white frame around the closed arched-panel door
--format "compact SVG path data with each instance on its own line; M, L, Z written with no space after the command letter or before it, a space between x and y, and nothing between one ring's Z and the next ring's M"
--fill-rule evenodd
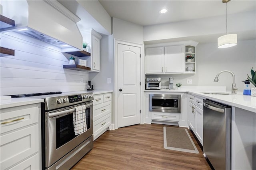
M128 42L114 38L114 129L118 129L118 44L124 44L128 46L135 46L140 48L140 124L144 124L143 119L143 90L144 90L144 45L135 42ZM113 127L113 126L112 126Z

